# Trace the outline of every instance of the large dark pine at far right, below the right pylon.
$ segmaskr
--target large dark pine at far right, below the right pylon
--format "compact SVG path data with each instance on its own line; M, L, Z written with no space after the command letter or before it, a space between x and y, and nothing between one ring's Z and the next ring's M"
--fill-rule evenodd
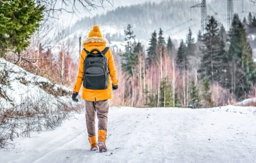
M251 86L255 84L256 66L252 60L252 49L247 41L246 31L238 14L233 17L229 32L228 51L231 82L229 87L238 98L246 97Z

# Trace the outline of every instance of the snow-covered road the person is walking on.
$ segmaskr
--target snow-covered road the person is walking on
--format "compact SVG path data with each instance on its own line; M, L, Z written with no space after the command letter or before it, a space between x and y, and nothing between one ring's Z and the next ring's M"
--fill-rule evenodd
M108 152L90 151L85 116L17 138L0 162L256 162L256 107L112 107Z

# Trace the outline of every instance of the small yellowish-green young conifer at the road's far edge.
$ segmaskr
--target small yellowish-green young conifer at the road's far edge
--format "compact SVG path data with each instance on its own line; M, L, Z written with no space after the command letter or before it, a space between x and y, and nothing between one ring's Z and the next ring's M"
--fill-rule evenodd
M170 90L170 84L168 77L162 79L160 84L160 106L161 107L171 107L173 106L173 95Z

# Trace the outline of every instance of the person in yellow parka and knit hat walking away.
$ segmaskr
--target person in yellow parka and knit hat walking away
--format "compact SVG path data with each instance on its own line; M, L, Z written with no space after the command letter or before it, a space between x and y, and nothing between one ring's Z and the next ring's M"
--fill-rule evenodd
M86 125L91 150L105 152L105 140L112 90L118 88L117 72L112 52L106 47L98 25L94 25L88 38L83 41L78 75L72 99L76 99L82 85L81 98L86 100ZM95 117L98 118L98 142L95 134Z

